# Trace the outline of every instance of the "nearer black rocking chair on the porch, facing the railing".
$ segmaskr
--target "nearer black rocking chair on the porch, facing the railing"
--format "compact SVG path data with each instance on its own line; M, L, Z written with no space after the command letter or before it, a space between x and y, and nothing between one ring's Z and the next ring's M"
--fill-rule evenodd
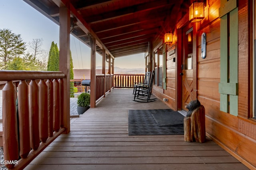
M150 76L150 82L148 85L136 85L134 92L133 101L137 102L152 102L156 101L156 98L150 99L152 94L152 85L154 81L154 71L152 71Z

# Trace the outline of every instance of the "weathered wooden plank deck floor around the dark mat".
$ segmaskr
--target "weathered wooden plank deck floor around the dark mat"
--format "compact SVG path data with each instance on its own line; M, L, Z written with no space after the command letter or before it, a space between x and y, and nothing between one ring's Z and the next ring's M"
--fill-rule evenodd
M183 135L128 135L129 109L168 109L160 100L132 101L130 89L113 89L96 106L71 120L26 170L243 170L211 140L184 142Z

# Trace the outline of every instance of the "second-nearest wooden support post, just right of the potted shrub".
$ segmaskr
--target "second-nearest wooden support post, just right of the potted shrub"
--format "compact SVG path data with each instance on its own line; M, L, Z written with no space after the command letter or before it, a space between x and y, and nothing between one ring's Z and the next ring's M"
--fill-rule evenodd
M90 37L91 46L91 85L90 85L90 107L96 107L96 40Z

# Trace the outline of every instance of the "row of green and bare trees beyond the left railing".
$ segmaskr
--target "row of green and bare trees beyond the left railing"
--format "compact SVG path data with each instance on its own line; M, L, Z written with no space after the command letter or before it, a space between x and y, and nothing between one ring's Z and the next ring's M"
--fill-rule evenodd
M59 71L60 52L57 43L52 42L49 53L42 49L43 39L33 39L23 42L20 34L10 29L0 29L0 69L2 70L33 70L33 71ZM74 79L73 60L70 51L70 79ZM74 83L70 82L73 89ZM70 94L73 97L74 93Z

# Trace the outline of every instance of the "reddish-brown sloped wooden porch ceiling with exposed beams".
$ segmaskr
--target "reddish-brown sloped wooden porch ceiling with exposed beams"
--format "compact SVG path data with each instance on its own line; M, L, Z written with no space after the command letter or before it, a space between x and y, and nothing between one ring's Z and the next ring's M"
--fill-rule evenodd
M24 0L59 24L59 6L71 3L71 34L89 45L96 36L96 50L114 57L148 51L148 42L174 29L177 14L188 11L189 0ZM169 16L169 17L168 17ZM171 17L170 17L171 16Z

